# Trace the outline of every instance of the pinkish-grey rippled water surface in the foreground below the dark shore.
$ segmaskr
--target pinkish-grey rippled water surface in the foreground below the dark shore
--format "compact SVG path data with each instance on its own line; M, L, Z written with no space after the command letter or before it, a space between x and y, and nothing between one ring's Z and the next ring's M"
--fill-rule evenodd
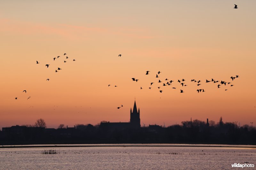
M179 144L176 146L150 144L147 147L143 144L136 147L113 145L1 148L0 169L232 169L231 164L234 163L249 162L256 165L256 148L253 147L232 147L232 145L190 147ZM250 145L246 146L250 147ZM58 153L42 154L44 149L55 149Z

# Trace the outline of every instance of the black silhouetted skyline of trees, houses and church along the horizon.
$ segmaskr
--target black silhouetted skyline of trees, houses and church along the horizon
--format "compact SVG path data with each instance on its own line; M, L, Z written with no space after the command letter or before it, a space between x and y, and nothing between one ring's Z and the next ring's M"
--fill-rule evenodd
M240 126L237 122L215 123L200 120L182 121L162 127L157 124L140 125L140 108L137 110L134 100L130 109L129 122L102 121L100 124L76 124L58 129L47 128L44 119L38 119L35 125L16 125L2 128L1 144L86 144L86 143L195 143L195 144L256 144L256 128Z

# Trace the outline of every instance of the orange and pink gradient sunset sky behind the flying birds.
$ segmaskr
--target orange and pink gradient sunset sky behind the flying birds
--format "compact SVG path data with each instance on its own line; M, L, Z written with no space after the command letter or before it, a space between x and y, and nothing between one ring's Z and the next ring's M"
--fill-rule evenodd
M256 124L255 0L0 4L0 128L39 118L49 128L128 122L134 97L141 125L168 126L190 117L218 122L220 116ZM172 85L157 83L158 71ZM177 82L182 78L188 86ZM218 89L205 83L211 78L234 86ZM191 79L203 81L199 87L206 92L197 93Z

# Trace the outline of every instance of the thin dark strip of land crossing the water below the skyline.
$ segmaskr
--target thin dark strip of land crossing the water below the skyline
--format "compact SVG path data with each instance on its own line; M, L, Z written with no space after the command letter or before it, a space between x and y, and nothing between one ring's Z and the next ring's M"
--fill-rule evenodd
M232 146L232 145L220 145L220 146L216 146L216 145L149 145L149 144L145 144L145 145L138 145L138 144L129 144L129 145L38 145L38 146L26 146L26 145L11 145L11 146L0 146L0 148L63 148L63 147L214 147L214 148L256 148L255 145L252 146Z

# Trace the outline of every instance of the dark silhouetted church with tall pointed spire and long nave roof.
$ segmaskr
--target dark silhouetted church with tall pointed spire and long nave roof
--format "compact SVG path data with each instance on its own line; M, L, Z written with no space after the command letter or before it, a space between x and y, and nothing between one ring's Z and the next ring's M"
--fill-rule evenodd
M134 101L133 110L130 111L130 122L100 122L101 129L117 130L138 129L140 128L140 108L137 111L136 101Z

